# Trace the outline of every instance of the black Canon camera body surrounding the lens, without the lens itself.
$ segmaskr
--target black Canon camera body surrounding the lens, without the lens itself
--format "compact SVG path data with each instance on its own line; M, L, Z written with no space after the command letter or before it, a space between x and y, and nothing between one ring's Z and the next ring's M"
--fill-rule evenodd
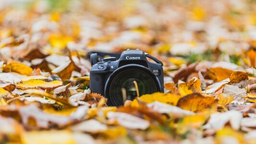
M148 61L146 59L147 57L155 62ZM119 60L115 57L104 58L99 62L93 59L98 59L98 57L93 58L91 56L92 69L90 71L90 89L93 93L98 93L109 98L107 85L110 83L111 77L114 77L114 73L118 71L121 72L122 69L125 68L129 69L129 67L141 69L152 75L158 85L157 91L164 91L162 62L139 49L127 49L123 51ZM136 70L133 72L136 72Z

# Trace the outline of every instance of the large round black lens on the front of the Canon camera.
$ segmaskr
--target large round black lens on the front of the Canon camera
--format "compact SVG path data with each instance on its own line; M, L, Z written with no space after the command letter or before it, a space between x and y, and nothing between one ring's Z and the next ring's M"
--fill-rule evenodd
M114 106L123 105L125 100L134 100L137 96L136 84L139 96L152 94L159 91L156 76L146 67L126 66L118 72L114 72L106 85L108 104Z

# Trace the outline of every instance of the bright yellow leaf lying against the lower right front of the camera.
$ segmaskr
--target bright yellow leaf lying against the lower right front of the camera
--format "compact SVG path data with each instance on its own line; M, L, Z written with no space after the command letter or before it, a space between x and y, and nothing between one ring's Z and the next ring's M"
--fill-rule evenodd
M158 101L165 104L170 104L176 106L178 100L181 98L179 95L170 94L170 93L154 93L154 94L147 94L140 96L139 99L146 102L146 103L152 103L154 101ZM133 100L132 104L133 107L138 107L138 101L136 99Z

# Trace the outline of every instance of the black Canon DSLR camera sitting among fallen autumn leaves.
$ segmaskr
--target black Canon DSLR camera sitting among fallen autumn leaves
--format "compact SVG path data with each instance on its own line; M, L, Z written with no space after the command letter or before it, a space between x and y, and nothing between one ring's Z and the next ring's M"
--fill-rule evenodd
M164 90L163 63L139 49L123 51L119 60L116 57L99 60L97 53L91 54L90 59L90 89L108 98L110 106Z

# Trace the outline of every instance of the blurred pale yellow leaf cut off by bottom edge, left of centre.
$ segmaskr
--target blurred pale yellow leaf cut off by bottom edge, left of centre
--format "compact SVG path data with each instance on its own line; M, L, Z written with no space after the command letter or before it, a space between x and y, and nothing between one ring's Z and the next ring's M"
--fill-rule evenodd
M22 144L76 144L69 131L31 131L23 132Z

